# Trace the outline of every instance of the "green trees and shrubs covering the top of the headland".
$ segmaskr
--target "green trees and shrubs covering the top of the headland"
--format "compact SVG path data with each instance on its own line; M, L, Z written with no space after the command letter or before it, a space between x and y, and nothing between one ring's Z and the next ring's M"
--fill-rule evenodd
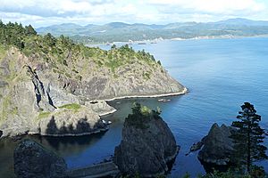
M0 57L11 46L29 58L46 62L54 72L76 79L81 79L81 73L88 72L89 63L96 71L98 68L110 69L111 76L115 78L121 76L117 71L125 65L138 63L148 65L151 70L159 68L154 56L144 50L136 53L127 44L119 48L113 45L111 50L105 51L98 47L76 44L66 36L54 37L50 33L39 36L30 25L23 27L18 23L4 24L0 21ZM84 65L77 68L81 62ZM149 71L145 77L149 78Z

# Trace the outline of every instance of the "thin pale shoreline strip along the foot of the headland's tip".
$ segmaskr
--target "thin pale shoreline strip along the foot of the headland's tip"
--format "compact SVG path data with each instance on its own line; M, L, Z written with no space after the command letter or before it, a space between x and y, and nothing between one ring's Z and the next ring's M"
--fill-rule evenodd
M101 100L101 101L115 101L115 100L130 99L130 98L158 98L158 97L166 97L166 96L176 96L176 95L181 95L181 94L185 94L185 93L188 93L188 89L186 87L183 88L182 92L178 92L178 93L119 96L119 97L114 97L111 99L105 99L105 100Z

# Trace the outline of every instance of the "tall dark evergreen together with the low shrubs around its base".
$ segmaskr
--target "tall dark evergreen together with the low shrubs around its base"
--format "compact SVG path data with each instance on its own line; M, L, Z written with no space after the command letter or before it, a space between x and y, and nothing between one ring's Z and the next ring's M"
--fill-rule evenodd
M231 132L230 138L234 142L234 150L231 159L235 165L231 166L227 172L205 174L202 178L265 178L264 167L256 166L254 163L267 159L265 151L267 148L261 144L264 142L265 131L259 125L261 116L256 114L252 104L245 102L241 106L239 121L232 122L236 128Z

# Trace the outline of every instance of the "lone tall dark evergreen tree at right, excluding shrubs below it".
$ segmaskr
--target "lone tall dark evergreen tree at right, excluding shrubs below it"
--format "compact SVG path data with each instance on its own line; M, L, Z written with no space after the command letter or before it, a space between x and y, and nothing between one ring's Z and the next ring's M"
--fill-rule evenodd
M265 154L267 148L261 144L265 132L259 125L261 116L256 114L252 104L245 102L241 109L237 117L239 121L232 122L232 126L237 128L230 136L234 142L232 158L239 166L247 166L247 173L250 174L255 161L268 158Z

